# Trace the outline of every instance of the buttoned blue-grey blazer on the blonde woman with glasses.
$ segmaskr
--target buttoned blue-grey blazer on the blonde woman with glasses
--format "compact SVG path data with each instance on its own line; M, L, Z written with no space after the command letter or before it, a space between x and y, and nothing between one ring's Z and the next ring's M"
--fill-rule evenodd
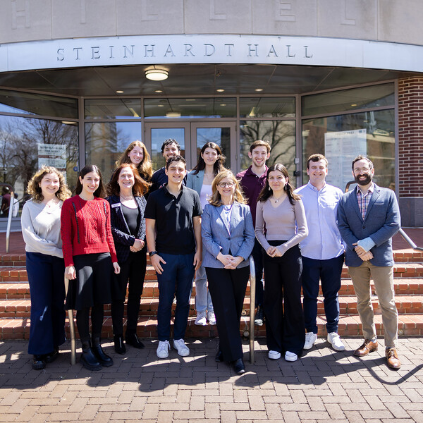
M219 252L223 255L243 257L240 267L248 266L248 258L254 247L254 228L250 207L247 204L233 203L230 225L223 216L223 206L207 204L204 207L201 223L203 243L202 266L223 269L223 264L216 259Z

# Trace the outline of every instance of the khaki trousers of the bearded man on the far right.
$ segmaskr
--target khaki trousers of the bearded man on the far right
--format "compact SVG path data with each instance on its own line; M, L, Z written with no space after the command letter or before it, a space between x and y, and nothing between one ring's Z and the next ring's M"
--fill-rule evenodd
M353 280L355 295L357 295L357 310L362 322L364 338L376 338L370 290L370 279L373 279L382 311L385 346L386 348L396 347L398 340L398 312L393 293L393 266L374 266L367 261L358 267L350 266L348 271Z

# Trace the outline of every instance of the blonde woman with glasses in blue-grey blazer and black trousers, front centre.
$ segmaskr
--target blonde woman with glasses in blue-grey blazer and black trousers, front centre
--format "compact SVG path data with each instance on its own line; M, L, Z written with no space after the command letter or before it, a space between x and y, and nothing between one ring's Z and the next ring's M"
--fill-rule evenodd
M240 318L250 268L248 257L254 246L250 207L231 171L214 178L213 194L202 214L203 262L209 280L219 333L216 361L245 372L240 336Z

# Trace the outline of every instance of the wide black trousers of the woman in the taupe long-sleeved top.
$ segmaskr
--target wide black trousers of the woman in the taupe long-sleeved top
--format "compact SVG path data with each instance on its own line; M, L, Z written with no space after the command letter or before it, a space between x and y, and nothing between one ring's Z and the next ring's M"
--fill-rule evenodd
M281 245L283 242L269 241L269 244ZM305 343L300 248L295 245L282 257L269 257L264 252L263 265L267 348L300 355Z

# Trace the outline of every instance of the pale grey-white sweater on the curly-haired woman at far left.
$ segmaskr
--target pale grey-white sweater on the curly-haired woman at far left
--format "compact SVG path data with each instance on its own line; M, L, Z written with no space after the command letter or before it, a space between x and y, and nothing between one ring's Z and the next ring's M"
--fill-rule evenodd
M60 215L63 202L54 207L27 201L22 209L20 223L25 251L63 257L60 235Z

